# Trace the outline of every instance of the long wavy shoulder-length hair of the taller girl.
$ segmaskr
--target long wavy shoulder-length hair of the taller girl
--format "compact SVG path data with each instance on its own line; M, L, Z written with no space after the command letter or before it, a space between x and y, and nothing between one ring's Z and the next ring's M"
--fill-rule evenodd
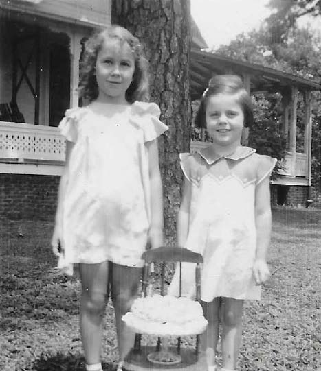
M84 58L80 64L80 82L78 87L80 97L89 102L98 97L98 84L95 75L96 61L102 44L108 39L126 42L133 51L135 71L133 81L126 91L126 101L133 103L135 100L148 100L148 61L144 58L142 45L131 32L118 25L111 25L106 29L101 29L86 41Z

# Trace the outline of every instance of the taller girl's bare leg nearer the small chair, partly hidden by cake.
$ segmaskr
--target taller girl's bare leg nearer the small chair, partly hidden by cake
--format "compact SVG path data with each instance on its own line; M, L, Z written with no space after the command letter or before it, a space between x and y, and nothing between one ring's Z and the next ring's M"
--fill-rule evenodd
M137 298L137 290L142 276L142 268L126 267L112 264L111 298L115 309L116 330L120 363L122 363L133 347L135 333L122 321L122 316L131 309L133 300Z

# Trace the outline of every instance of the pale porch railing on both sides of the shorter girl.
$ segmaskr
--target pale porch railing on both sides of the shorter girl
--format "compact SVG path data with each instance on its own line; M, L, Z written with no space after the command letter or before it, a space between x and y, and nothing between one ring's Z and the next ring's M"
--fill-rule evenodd
M206 142L190 142L190 152L195 153L203 147L207 147L209 143ZM296 153L295 164L294 156L287 154L283 160L283 170L279 171L280 175L284 176L300 176L307 177L307 154Z

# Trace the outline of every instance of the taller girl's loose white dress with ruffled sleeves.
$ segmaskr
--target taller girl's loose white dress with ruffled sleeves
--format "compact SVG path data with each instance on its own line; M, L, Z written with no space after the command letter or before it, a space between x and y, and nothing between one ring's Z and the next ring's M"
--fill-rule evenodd
M112 261L142 267L150 222L148 151L168 128L157 104L135 102L122 112L91 106L67 110L60 132L74 147L63 200L58 267Z

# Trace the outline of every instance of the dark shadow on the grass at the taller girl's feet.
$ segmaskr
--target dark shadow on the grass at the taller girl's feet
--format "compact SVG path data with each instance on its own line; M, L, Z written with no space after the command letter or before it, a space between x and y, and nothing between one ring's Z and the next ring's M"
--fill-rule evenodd
M113 365L109 363L102 363L104 371L113 370ZM57 353L52 357L41 355L36 359L30 367L24 370L34 371L85 371L85 357L81 355L63 355Z

